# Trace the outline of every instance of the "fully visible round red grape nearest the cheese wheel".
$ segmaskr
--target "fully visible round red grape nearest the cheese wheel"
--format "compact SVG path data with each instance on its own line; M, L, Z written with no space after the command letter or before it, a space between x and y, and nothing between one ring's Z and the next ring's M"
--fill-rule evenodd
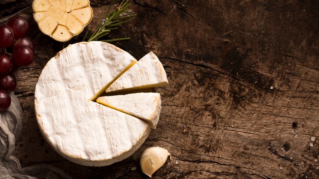
M18 46L12 52L12 61L20 67L30 65L33 62L33 57L32 49L26 46Z

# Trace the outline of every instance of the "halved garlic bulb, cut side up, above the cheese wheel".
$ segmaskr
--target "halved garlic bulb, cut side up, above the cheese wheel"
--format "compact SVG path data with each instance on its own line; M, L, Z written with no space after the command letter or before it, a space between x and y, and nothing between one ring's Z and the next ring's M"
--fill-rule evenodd
M93 17L89 0L34 0L32 9L40 31L60 42L81 33Z

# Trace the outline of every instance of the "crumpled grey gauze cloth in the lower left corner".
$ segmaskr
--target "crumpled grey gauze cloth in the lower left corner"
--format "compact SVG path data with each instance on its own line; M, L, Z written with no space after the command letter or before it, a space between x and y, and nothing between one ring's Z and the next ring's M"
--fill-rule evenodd
M16 96L11 93L11 105L0 112L0 179L9 178L71 178L62 170L48 164L21 167L13 156L15 141L21 134L22 109Z

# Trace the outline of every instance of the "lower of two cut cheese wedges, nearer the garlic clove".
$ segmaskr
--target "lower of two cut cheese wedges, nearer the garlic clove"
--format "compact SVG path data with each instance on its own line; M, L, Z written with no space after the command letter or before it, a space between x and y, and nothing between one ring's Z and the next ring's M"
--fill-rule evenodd
M134 93L117 96L103 96L96 102L129 115L138 117L156 128L161 113L161 95L159 93Z

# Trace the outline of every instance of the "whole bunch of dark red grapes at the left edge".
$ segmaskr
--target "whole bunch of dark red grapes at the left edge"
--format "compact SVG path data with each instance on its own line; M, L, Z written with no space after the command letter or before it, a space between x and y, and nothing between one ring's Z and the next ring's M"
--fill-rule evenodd
M33 62L34 43L25 37L29 30L28 21L15 16L7 25L0 25L0 111L7 110L11 104L10 92L17 85L13 73L18 67L28 66Z

